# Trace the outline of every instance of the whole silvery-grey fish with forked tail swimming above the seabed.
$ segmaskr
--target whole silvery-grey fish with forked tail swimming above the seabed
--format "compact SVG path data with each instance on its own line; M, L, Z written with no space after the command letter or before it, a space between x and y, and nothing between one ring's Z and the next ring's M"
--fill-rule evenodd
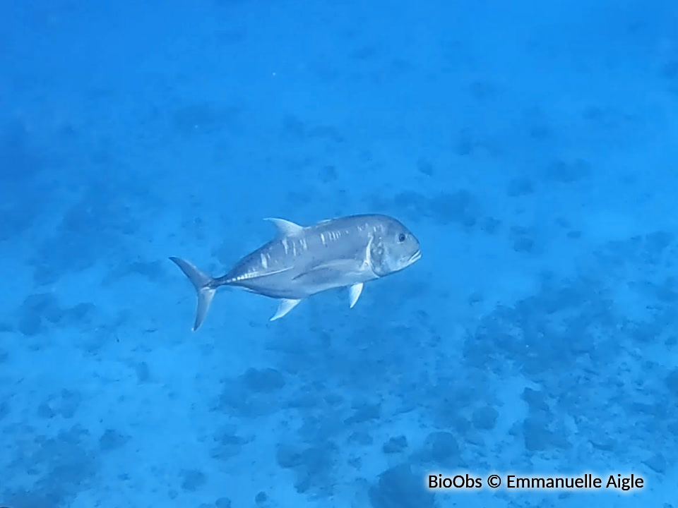
M398 219L383 214L350 215L310 226L273 217L265 220L275 225L275 237L221 277L212 277L185 259L169 258L196 290L194 332L222 286L275 298L278 309L270 317L275 321L310 296L331 289L347 288L353 308L366 282L400 272L422 256L415 235Z

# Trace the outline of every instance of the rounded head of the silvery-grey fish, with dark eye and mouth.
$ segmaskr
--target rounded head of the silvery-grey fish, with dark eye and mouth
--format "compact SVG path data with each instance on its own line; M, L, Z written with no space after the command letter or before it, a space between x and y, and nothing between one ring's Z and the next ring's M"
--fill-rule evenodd
M371 238L369 262L379 277L399 272L421 257L419 240L396 219L385 222Z

